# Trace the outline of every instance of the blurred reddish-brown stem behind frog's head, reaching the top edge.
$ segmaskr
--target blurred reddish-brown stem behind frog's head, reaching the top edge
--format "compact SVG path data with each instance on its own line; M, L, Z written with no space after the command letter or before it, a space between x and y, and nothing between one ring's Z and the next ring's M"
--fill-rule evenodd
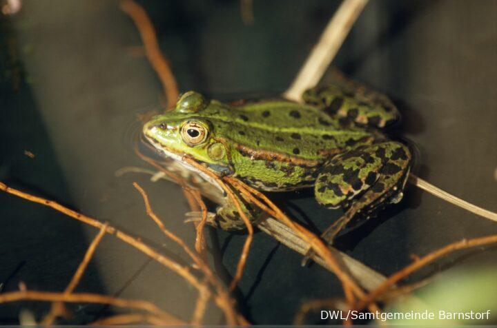
M124 0L121 2L120 7L121 10L126 12L126 14L135 22L139 34L142 37L142 42L144 43L146 57L148 58L148 61L150 61L150 65L152 65L155 72L159 75L164 94L167 98L167 107L172 107L178 96L177 83L166 58L164 58L164 55L159 48L157 34L155 33L152 22L150 22L150 19L142 6L139 6L135 1Z

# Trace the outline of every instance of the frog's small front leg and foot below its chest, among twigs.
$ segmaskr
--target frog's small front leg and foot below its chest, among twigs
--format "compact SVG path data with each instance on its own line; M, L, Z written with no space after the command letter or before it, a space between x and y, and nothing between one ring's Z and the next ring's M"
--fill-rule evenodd
M265 213L257 206L246 202L244 198L232 188L233 194L240 204L240 207L249 221L253 224L255 221L264 218ZM246 229L246 225L238 212L235 201L230 196L224 198L224 204L217 207L215 213L208 213L207 223L215 228L221 228L226 231L236 231ZM201 212L190 212L187 214L186 222L200 221Z

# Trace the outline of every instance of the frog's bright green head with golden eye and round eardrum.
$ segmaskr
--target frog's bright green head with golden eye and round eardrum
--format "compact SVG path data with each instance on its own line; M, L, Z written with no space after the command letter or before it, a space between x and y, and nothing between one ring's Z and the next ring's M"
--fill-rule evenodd
M181 161L182 156L188 155L220 174L228 174L228 150L216 140L213 125L202 115L209 105L202 94L188 91L179 96L174 110L157 115L144 125L144 136L166 156Z

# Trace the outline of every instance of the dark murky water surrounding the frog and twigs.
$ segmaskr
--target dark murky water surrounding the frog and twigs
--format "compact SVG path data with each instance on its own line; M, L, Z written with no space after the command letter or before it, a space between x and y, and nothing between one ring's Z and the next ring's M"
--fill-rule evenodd
M338 1L254 1L246 24L239 1L143 1L181 91L222 100L275 96L297 74ZM137 114L159 108L162 88L132 21L114 1L23 1L1 17L0 180L77 209L186 260L146 217L137 181L166 226L193 243L179 187L148 176L116 177L121 167L147 167L133 154ZM497 211L497 2L371 1L333 61L353 79L391 96L402 112L396 133L416 146L415 173L461 198ZM35 154L30 158L28 150ZM281 201L282 196L275 196ZM313 229L340 211L320 208L305 192L282 203ZM95 229L52 209L0 194L0 283L62 291ZM309 223L308 223L309 224ZM317 230L316 230L317 231ZM340 249L388 275L461 238L497 233L496 223L415 187L404 201L339 240ZM217 274L228 282L242 234L209 229ZM493 262L496 249L466 252L431 265ZM235 295L259 324L289 324L305 300L340 297L338 280L301 256L255 234ZM181 278L111 236L99 245L78 291L145 298L188 320L195 291ZM39 318L47 304L0 306L0 323L21 309ZM72 322L113 309L73 306ZM210 309L208 322L222 322ZM318 314L309 322L319 322Z

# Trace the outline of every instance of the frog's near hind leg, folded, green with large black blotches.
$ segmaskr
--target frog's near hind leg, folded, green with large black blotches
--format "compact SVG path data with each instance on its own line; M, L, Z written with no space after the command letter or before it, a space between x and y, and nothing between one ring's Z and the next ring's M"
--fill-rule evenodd
M318 176L315 196L324 206L349 208L323 232L322 238L331 245L344 227L355 227L387 204L398 203L410 164L409 149L395 141L335 156ZM312 254L308 252L303 264Z

